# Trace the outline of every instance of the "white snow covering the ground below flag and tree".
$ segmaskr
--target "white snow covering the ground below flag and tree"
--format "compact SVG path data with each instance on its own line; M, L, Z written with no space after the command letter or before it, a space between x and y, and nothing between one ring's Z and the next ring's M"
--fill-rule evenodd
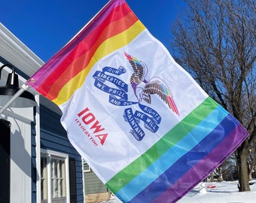
M200 183L177 203L255 203L256 180L250 182L254 183L251 185L251 192L238 192L238 181ZM112 196L109 201L103 202L120 203L121 201Z

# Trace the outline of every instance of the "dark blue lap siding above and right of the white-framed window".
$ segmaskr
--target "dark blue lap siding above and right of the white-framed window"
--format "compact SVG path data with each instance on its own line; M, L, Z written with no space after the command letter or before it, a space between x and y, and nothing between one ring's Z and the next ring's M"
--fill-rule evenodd
M60 123L60 116L47 107L40 106L40 126L41 126L41 149L54 150L60 153L69 154L70 158L75 159L76 183L77 183L77 202L84 203L83 195L83 171L81 156L72 147L67 138L66 130Z

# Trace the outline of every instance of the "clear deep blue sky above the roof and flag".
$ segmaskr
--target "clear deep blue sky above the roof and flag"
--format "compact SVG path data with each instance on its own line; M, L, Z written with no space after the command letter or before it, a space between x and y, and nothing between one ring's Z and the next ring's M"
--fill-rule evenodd
M108 0L9 0L1 2L0 22L47 62ZM169 48L170 26L182 0L126 0L154 37Z

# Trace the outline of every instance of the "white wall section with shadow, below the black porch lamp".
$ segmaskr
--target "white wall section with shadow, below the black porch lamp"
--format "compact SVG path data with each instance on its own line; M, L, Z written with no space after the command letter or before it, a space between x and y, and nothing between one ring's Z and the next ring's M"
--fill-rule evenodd
M22 116L20 116L22 115ZM31 122L33 108L12 108L2 114L11 122L11 203L32 202Z

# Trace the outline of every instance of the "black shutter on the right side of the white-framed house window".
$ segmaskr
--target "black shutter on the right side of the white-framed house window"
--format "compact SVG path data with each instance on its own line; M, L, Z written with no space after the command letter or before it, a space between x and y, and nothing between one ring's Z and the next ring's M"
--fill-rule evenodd
M70 203L77 202L77 180L76 180L76 169L75 159L69 158L69 192L70 192Z

